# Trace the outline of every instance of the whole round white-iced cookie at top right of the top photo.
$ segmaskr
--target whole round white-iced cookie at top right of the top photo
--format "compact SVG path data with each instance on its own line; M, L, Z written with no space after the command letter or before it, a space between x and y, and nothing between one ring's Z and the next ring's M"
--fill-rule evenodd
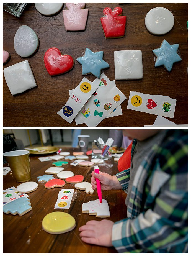
M156 7L147 13L144 22L151 34L164 35L174 26L174 16L168 9Z

